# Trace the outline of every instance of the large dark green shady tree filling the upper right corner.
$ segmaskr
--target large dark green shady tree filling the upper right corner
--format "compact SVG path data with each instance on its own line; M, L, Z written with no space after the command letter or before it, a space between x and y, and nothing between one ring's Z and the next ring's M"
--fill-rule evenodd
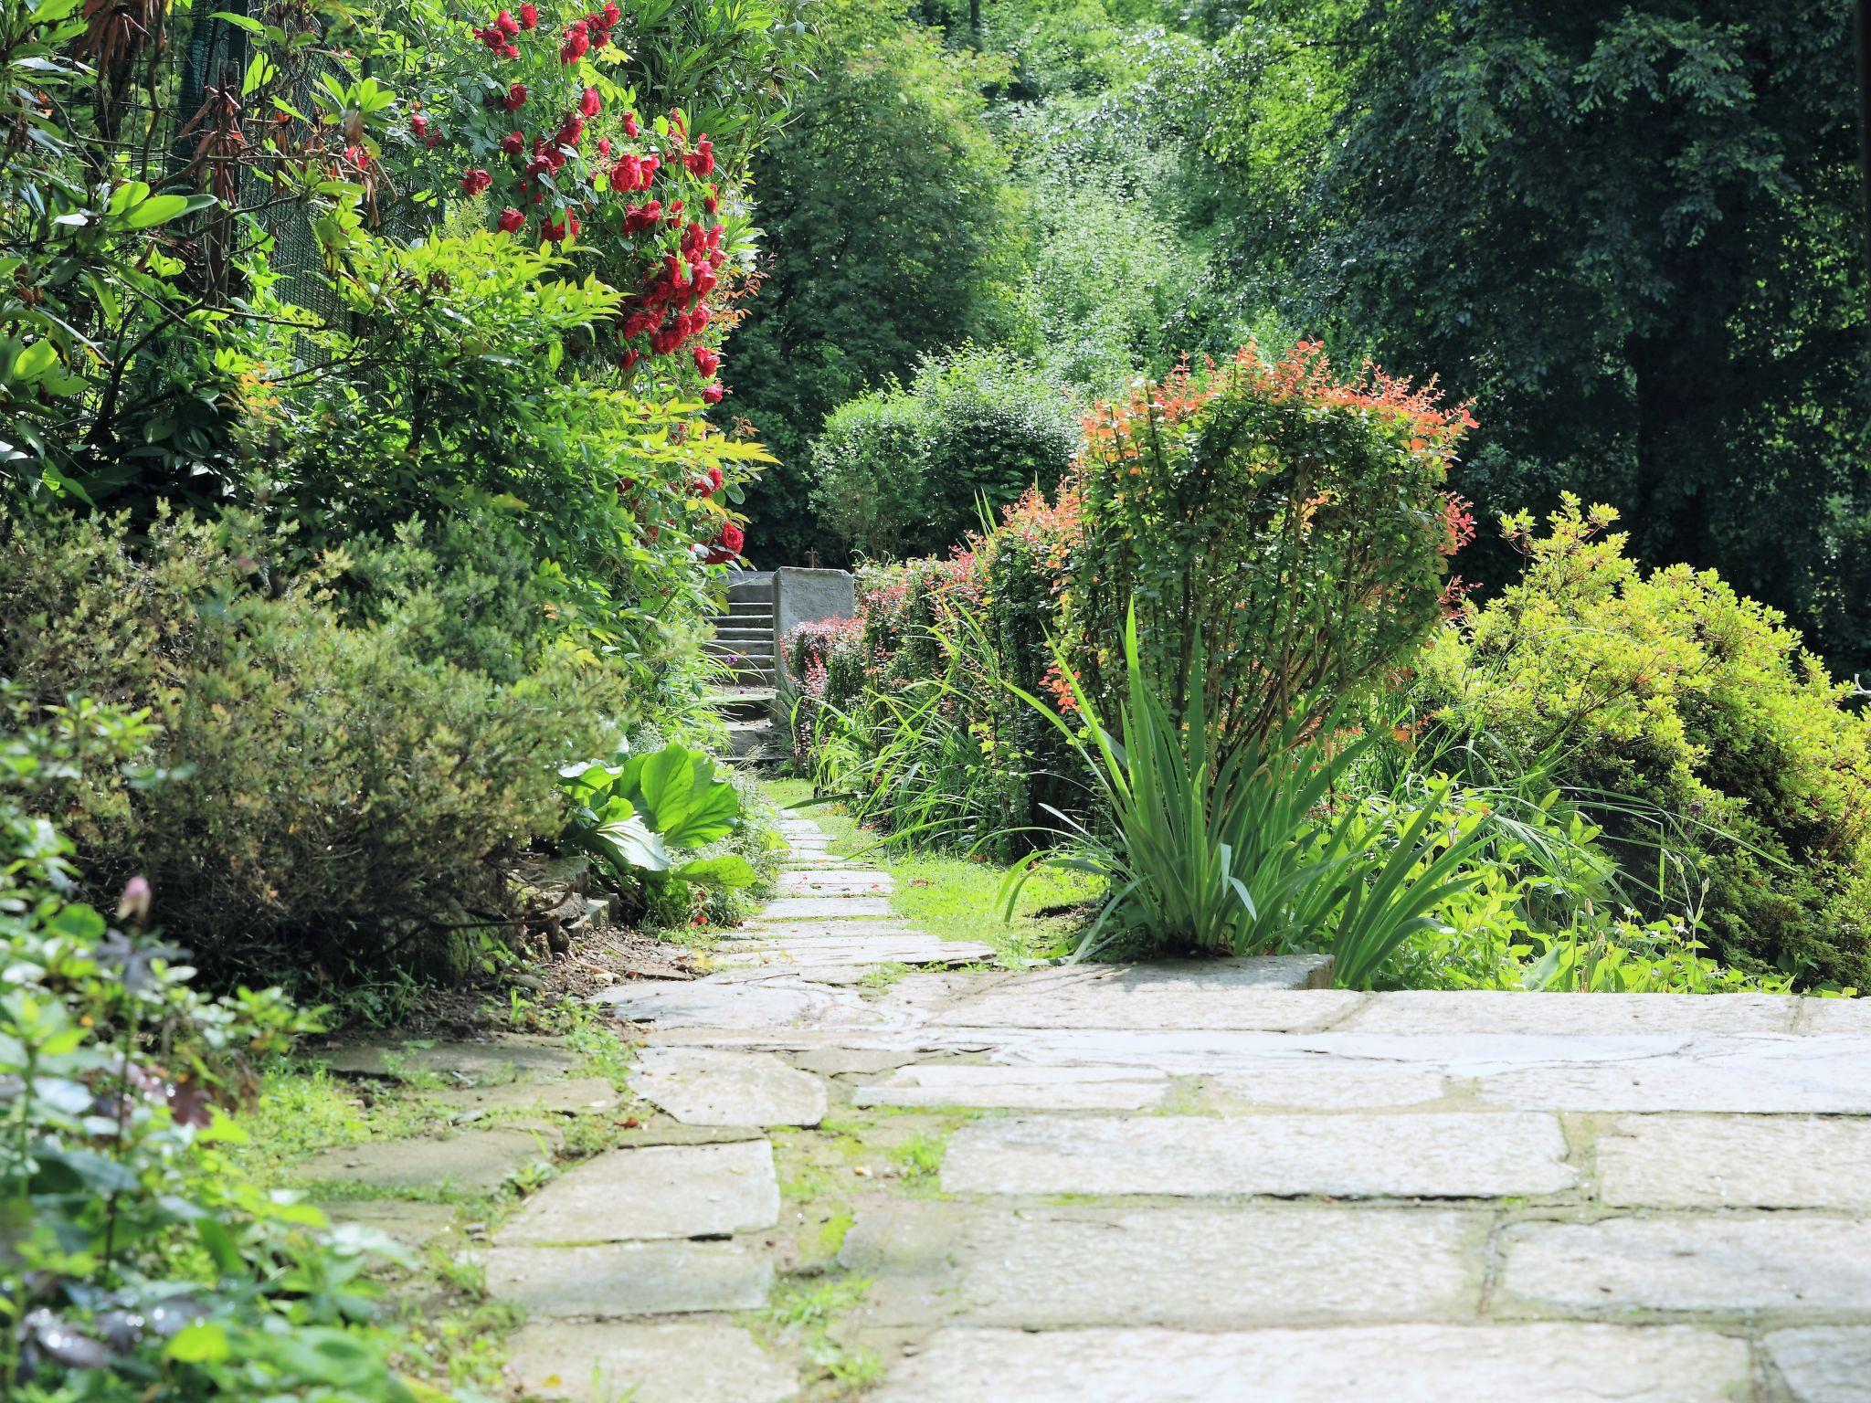
M1310 180L1242 226L1295 322L1476 398L1484 509L1611 501L1862 664L1828 604L1871 501L1852 7L1261 0L1218 146L1252 170L1328 52Z

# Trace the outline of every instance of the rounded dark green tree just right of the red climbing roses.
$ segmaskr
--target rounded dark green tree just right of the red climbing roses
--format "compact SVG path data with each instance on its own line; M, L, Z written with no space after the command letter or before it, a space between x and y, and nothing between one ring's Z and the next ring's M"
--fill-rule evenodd
M808 441L825 413L924 354L1008 324L1020 245L1007 159L980 120L992 77L868 4L823 17L819 80L756 165L773 262L733 337L735 402L788 464L750 511L767 565L827 561Z

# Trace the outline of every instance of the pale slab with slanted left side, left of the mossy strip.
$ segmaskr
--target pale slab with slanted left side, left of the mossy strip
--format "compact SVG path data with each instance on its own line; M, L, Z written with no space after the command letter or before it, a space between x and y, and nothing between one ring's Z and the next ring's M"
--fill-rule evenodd
M780 1218L773 1147L610 1150L559 1175L494 1237L501 1248L758 1233Z

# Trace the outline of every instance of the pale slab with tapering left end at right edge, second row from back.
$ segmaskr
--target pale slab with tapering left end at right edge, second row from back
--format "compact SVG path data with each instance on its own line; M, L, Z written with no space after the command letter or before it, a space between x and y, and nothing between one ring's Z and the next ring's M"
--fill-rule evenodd
M1643 1003L1663 995L1611 997ZM1867 1066L1871 1038L1691 1038L1656 1057L1499 1072L1482 1078L1476 1091L1499 1106L1555 1111L1871 1115Z

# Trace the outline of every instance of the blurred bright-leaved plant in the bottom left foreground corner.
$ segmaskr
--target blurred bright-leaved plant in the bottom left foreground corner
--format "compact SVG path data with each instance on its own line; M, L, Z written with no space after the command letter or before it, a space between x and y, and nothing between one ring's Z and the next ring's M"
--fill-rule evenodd
M75 702L0 733L0 1396L36 1403L413 1403L369 1321L357 1231L247 1180L221 1115L311 1027L277 990L208 999L187 954L73 898L32 817L73 774L122 784L153 728ZM161 788L161 782L155 782ZM438 1397L423 1390L427 1397Z

